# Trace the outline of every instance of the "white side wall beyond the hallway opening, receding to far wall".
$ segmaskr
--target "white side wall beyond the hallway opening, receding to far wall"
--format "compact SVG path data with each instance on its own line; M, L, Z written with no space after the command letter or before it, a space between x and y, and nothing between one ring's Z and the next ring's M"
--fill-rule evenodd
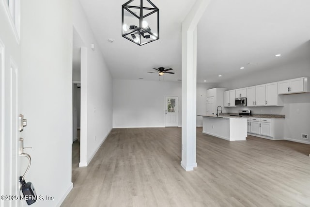
M87 50L87 62L81 60L87 65L86 71L81 66L80 149L80 166L87 166L112 129L112 76L79 0L73 1L73 26Z

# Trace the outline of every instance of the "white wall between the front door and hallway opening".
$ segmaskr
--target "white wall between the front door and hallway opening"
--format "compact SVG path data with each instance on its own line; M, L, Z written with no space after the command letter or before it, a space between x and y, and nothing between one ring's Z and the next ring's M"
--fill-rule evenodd
M38 195L32 207L58 206L72 189L72 4L70 0L21 1L22 132L31 146L31 181ZM25 170L25 169L23 169ZM25 202L26 204L26 202Z

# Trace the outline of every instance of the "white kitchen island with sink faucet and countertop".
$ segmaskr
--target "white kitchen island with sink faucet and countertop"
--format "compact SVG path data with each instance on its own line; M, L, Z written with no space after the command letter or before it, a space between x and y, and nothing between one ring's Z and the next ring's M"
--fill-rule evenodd
M247 118L239 116L202 116L202 133L228 141L245 141L248 136Z

